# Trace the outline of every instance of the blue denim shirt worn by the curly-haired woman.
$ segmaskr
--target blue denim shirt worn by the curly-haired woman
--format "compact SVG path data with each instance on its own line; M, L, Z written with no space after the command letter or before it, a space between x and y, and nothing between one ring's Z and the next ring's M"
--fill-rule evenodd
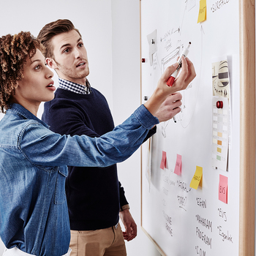
M122 162L158 123L141 105L100 138L61 136L13 104L0 121L0 236L5 246L38 256L67 253L67 165L107 167Z

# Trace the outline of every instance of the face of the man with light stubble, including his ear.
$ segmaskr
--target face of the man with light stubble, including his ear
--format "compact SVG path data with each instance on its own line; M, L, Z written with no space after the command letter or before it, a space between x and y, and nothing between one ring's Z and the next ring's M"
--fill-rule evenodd
M83 40L72 30L51 39L54 59L47 58L47 64L56 70L60 78L85 84L89 75L89 63Z

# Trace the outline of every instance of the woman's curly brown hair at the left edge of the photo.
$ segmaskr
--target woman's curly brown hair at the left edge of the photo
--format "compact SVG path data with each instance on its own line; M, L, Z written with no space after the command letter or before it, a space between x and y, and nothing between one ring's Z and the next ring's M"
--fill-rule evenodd
M17 81L23 78L24 64L31 59L37 49L44 47L30 32L7 34L0 37L0 111L10 108L12 92L15 93Z

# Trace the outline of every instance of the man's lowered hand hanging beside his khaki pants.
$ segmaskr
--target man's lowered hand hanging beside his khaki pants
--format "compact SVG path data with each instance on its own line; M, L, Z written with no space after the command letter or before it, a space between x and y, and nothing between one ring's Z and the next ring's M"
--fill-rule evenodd
M125 232L123 232L124 239L131 241L137 236L137 225L135 220L132 218L132 214L130 214L129 209L120 211L119 216L125 228Z

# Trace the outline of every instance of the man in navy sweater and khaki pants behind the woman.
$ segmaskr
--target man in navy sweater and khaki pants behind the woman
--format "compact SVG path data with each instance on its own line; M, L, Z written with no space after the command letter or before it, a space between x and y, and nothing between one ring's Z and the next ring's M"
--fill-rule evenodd
M87 80L89 62L83 39L70 20L48 23L37 37L45 45L45 61L59 75L55 99L45 103L42 120L61 135L99 137L114 128L105 97ZM180 105L181 96L173 101ZM178 113L178 112L177 112ZM155 132L152 129L148 137ZM69 167L66 181L71 228L71 255L127 255L124 238L137 236L116 165ZM125 232L118 225L119 215Z

